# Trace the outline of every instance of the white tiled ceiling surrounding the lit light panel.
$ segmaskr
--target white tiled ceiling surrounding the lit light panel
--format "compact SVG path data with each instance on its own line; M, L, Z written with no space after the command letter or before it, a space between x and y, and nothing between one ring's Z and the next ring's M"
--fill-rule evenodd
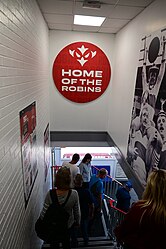
M37 0L49 29L116 34L154 0ZM83 8L100 3L100 8ZM92 6L93 5L93 6ZM101 27L74 25L74 14L106 17Z

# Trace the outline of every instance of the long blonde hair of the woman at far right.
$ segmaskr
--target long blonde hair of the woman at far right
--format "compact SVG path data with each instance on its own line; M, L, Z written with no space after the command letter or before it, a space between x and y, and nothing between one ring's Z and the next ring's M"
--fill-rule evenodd
M166 225L166 170L150 173L142 198L142 207L150 207L149 215L156 224Z

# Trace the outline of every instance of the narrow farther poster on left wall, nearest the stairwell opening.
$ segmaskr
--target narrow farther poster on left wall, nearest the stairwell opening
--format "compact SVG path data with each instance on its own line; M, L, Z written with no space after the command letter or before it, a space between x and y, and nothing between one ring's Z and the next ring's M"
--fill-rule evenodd
M47 125L45 131L44 131L44 176L45 176L45 181L47 179L48 175L48 170L50 166L50 146L49 146L49 141L50 141L50 136L49 136L49 124Z

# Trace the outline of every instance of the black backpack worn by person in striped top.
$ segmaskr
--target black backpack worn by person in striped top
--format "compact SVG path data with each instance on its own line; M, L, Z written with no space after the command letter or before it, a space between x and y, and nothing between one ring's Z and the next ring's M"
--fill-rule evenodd
M47 242L61 241L65 236L68 236L69 213L64 209L64 206L70 194L71 190L69 190L65 202L60 205L56 190L50 190L52 204L48 207L44 218L39 217L35 224L35 231L40 239Z

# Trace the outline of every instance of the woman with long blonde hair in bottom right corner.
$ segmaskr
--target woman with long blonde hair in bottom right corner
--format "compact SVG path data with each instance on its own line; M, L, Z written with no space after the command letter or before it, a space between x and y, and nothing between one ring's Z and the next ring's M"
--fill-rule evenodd
M124 249L166 248L166 170L150 173L142 200L114 232Z

